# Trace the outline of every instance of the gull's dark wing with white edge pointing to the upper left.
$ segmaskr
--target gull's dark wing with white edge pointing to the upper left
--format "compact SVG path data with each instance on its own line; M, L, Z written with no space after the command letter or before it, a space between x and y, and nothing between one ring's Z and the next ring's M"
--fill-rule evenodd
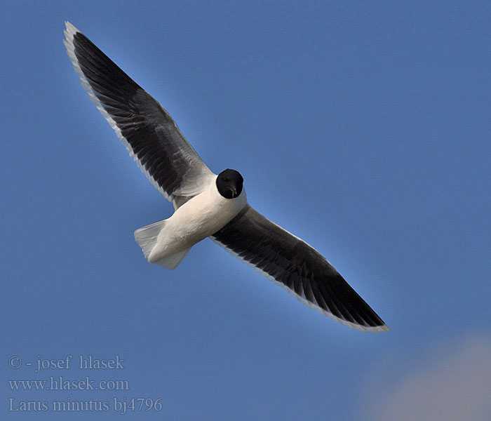
M65 46L83 88L138 166L175 208L199 194L210 169L168 112L71 23Z

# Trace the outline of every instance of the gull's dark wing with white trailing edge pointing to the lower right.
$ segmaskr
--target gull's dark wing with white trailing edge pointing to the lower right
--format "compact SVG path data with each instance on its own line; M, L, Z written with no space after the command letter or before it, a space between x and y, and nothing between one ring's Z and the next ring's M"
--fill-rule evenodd
M318 251L250 206L210 238L325 316L365 332L389 330Z

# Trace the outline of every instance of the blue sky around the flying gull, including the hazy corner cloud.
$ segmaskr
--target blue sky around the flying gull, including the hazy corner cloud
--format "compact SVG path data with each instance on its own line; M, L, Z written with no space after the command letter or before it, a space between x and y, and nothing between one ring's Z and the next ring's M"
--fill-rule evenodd
M4 4L2 418L490 419L490 13ZM133 231L172 206L83 91L65 20L166 107L212 171L240 171L251 205L323 253L391 331L335 323L209 240L175 271L146 262ZM69 355L69 369L35 372ZM80 355L125 368L80 370ZM8 382L60 375L128 390ZM162 408L123 416L125 397ZM9 412L9 399L49 410ZM109 410L51 410L90 399Z

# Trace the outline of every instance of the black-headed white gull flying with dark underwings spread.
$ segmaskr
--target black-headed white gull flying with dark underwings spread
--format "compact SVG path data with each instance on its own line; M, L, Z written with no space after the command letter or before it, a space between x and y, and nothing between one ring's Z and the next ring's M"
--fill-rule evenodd
M159 102L76 27L65 25L64 43L83 88L173 203L170 218L135 231L149 262L175 269L209 237L321 314L365 332L389 330L317 250L249 205L238 171L210 171Z

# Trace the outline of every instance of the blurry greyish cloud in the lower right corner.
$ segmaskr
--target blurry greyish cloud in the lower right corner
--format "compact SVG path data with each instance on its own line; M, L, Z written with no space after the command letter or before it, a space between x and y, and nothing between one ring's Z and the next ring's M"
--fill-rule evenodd
M369 419L491 420L491 338L467 338L433 352L429 361L386 387L374 387L380 382L376 377L366 396Z

